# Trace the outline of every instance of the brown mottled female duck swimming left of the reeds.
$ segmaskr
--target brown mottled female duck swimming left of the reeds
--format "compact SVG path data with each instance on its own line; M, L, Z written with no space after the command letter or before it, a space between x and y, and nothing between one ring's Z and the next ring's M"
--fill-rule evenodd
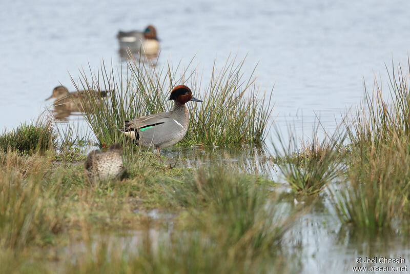
M89 94L95 96L97 105L99 105L101 100L107 96L106 91L90 91ZM83 102L86 102L87 91L81 90L69 92L65 86L57 86L53 89L51 96L46 100L52 98L56 99L53 103L55 110L84 111L84 107L86 106L81 103L81 99L83 99Z

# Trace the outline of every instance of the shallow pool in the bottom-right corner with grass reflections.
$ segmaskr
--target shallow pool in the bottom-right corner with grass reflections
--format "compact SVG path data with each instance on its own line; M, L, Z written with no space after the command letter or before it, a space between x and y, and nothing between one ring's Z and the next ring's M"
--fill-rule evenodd
M294 204L292 194L283 194L283 201ZM326 193L304 200L307 211L285 234L283 244L300 255L301 273L350 273L353 266L394 266L395 264L358 264L356 259L410 256L408 237L394 230L379 233L360 231L342 225L333 214L331 199ZM396 266L404 266L399 264Z

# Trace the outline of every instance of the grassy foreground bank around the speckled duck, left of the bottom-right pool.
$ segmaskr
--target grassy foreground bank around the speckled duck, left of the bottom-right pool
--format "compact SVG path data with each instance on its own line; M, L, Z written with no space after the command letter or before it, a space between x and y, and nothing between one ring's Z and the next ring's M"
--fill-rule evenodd
M272 182L258 175L232 172L229 167L182 171L155 154L132 153L125 158L128 178L90 185L83 166L52 157L11 151L0 155L3 269L17 265L13 272L54 272L55 267L65 273L294 270L283 263L289 254L281 247L281 238L298 213L269 194ZM151 208L172 213L171 233L162 218L147 217ZM153 229L159 231L156 240L149 236ZM124 246L118 237L127 237L129 231L140 231L140 236ZM78 244L85 249L77 249Z

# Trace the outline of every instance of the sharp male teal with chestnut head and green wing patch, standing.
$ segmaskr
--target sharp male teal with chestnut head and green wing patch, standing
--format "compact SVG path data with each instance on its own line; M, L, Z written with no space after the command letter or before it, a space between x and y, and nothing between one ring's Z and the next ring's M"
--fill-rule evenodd
M189 87L176 86L169 100L174 101L174 108L169 112L141 116L131 121L125 121L120 129L132 138L138 145L159 149L170 147L182 140L187 133L189 112L185 104L189 101L202 102L195 99Z

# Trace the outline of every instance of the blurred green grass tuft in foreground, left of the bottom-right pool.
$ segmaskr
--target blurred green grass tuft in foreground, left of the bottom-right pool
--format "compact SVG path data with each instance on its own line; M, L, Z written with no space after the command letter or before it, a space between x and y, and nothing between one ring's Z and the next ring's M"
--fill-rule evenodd
M252 257L274 253L294 218L289 208L269 197L267 187L267 181L256 175L202 168L193 178L166 189L180 205L194 210L197 228L212 231L215 238L222 233L224 248Z

